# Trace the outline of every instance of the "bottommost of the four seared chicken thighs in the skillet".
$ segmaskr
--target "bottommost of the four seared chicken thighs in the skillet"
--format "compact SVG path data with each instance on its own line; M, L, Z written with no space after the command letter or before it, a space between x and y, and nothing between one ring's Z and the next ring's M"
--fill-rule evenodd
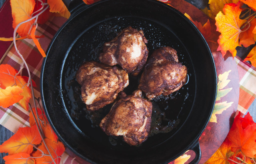
M101 129L107 135L123 136L129 145L138 145L148 138L151 127L152 103L141 98L142 91L132 95L120 92L109 114L100 122Z

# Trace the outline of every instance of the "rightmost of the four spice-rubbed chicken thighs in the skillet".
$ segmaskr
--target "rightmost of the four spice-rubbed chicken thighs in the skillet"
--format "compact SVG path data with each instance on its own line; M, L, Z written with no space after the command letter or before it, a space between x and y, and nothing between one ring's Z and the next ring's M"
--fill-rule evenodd
M177 51L161 47L149 57L138 88L149 100L180 89L187 81L187 67L179 63Z

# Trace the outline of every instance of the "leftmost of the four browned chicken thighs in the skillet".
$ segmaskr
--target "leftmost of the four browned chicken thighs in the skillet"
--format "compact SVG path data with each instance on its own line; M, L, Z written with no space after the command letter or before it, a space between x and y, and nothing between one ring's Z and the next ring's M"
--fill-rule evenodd
M82 100L90 111L114 102L118 93L129 84L128 74L123 69L95 61L84 62L76 78L82 86Z

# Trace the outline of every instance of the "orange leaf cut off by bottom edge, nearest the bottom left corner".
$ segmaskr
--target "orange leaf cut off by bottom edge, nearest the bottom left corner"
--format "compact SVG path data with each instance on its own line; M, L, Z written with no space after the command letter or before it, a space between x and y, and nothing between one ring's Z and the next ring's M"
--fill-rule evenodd
M29 154L27 153L17 153L17 154L13 154L13 155L7 155L5 157L3 157L3 159L5 160L5 164L34 164L35 160L33 157L30 157Z

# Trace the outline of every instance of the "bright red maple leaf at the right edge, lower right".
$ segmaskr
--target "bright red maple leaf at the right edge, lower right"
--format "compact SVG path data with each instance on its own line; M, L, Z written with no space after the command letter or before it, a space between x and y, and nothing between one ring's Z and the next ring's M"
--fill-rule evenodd
M237 155L253 158L256 155L256 123L253 122L249 112L242 117L241 112L235 117L232 127L227 135L232 142L231 151Z

